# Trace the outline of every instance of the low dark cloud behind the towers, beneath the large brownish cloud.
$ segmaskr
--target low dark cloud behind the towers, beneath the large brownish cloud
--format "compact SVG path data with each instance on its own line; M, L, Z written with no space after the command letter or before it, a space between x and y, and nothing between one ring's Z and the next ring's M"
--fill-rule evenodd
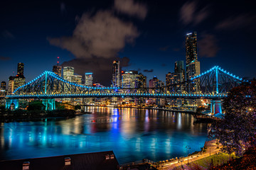
M121 67L127 67L129 65L129 58L84 58L74 59L68 62L63 62L62 66L69 66L75 68L75 73L84 77L85 72L93 73L93 82L98 82L104 86L110 86L112 79L112 63L114 60L119 60Z

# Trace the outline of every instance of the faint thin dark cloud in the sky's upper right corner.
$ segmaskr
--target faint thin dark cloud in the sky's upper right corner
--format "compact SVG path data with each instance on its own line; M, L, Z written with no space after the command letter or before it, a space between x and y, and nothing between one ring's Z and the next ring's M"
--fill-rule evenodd
M226 18L225 20L218 23L215 28L218 30L235 30L248 27L252 24L255 24L255 22L256 16L252 16L250 14L242 14L240 16Z

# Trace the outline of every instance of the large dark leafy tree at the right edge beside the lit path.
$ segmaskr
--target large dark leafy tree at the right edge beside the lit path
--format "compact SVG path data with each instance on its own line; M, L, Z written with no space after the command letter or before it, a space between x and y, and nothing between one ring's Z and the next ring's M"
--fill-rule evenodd
M231 89L223 108L224 118L208 126L208 136L217 138L224 152L241 155L256 145L256 81Z

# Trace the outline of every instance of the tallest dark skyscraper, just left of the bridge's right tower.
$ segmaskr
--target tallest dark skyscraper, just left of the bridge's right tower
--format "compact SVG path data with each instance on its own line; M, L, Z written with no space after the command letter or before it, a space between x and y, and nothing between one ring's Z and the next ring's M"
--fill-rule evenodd
M186 79L200 74L200 62L198 62L197 34L196 32L186 34ZM193 87L198 92L198 84Z

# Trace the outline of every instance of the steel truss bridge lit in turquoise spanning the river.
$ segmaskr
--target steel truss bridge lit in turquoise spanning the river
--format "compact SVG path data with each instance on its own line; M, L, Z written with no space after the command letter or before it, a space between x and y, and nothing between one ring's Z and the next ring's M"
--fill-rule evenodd
M46 109L55 109L55 98L188 98L211 99L213 112L221 113L221 99L243 81L230 72L215 66L188 81L155 88L90 87L67 81L53 72L45 71L32 81L18 87L6 96L6 108L18 108L21 98L39 98ZM218 109L216 109L218 108Z

